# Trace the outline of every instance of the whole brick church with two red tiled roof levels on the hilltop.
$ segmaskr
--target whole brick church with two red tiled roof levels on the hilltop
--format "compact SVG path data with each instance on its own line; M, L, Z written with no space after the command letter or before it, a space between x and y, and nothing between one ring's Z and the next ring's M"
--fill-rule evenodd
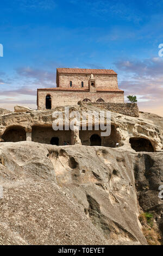
M58 68L57 87L37 89L37 108L76 105L84 102L124 103L117 74L109 69Z

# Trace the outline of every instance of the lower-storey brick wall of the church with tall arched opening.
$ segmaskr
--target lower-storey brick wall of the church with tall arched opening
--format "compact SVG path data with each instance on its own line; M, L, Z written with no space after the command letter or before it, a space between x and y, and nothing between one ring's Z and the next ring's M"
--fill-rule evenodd
M90 99L96 102L100 97L105 102L123 103L123 92L84 92L84 91L61 91L61 90L38 90L37 107L46 109L46 95L51 95L52 109L56 106L77 105L78 101Z

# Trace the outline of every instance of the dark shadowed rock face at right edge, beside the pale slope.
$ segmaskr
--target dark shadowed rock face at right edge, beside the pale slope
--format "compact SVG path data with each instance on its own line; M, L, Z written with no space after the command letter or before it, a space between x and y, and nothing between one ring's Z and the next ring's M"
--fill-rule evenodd
M161 235L163 235L163 186L162 199L158 195L159 186L163 185L162 162L162 153L138 154L134 162L135 187L139 205L144 212L150 212L153 215Z

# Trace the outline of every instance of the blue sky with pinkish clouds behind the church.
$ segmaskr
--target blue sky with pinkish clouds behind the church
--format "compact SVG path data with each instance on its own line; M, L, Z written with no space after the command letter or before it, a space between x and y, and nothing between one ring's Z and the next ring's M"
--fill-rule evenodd
M0 107L36 108L57 67L105 68L141 111L163 115L162 0L12 0L0 10Z

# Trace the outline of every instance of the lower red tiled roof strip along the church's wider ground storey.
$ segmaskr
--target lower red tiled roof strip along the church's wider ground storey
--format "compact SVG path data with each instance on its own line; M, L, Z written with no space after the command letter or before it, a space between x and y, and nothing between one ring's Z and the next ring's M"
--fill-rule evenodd
M68 91L68 92L90 92L89 89L83 89L83 88L39 88L37 90L60 90L60 91ZM109 88L109 89L97 89L97 92L124 92L123 90L120 90L118 88Z

